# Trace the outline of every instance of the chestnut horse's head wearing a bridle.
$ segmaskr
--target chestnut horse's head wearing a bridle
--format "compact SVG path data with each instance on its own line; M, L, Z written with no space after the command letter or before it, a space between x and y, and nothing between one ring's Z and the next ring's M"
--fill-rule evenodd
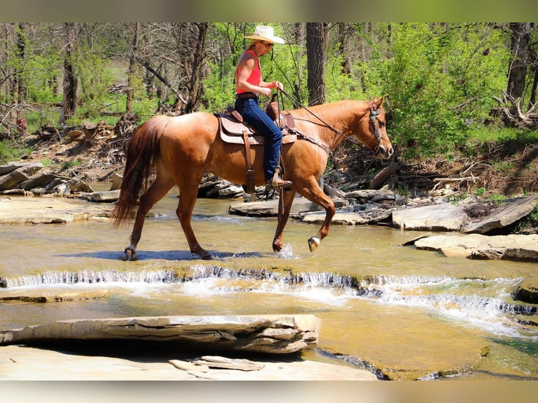
M385 111L381 104L383 98L374 99L369 102L368 110L360 119L359 139L370 150L374 152L374 157L388 159L394 152L391 140L387 135Z

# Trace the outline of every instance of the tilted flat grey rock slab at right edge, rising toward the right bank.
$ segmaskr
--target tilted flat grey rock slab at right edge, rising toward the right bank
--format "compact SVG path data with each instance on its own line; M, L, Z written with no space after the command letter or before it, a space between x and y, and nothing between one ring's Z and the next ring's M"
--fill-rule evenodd
M516 202L509 203L503 209L497 211L481 220L478 223L467 224L463 232L468 234L485 234L498 228L506 227L515 223L520 218L527 216L534 210L534 207L538 204L538 194L534 194L529 197L523 197L516 199Z

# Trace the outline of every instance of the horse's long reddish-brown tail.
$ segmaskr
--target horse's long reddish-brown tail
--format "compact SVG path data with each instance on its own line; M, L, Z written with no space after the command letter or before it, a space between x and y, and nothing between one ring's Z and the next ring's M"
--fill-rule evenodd
M148 178L159 154L159 138L166 126L166 117L153 117L138 126L126 145L124 177L112 216L114 225L134 216L141 192L147 189Z

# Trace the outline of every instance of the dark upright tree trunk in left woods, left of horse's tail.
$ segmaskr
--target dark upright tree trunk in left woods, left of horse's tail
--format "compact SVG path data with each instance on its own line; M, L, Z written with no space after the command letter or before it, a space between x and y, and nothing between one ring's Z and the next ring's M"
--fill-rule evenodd
M74 71L74 46L77 41L76 22L65 22L65 55L63 59L63 109L60 124L77 111L77 76Z

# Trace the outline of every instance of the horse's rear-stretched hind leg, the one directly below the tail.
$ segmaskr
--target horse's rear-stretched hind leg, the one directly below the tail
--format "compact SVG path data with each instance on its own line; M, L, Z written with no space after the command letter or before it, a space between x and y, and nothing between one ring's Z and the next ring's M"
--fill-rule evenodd
M153 182L150 188L140 197L133 232L131 232L131 244L125 248L124 260L136 260L136 246L142 235L145 216L150 212L155 203L159 202L159 200L171 190L173 185L174 182L170 177L162 178L157 176L155 182Z

